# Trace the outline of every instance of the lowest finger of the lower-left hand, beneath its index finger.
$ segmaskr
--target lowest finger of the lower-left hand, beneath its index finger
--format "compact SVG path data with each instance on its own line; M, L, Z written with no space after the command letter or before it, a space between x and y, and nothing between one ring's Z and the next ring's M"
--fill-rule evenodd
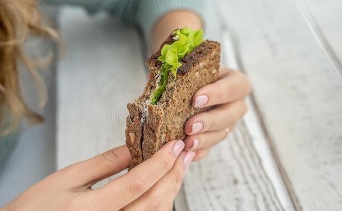
M182 152L172 169L124 210L172 210L172 203L181 188L185 171L195 155L195 152Z

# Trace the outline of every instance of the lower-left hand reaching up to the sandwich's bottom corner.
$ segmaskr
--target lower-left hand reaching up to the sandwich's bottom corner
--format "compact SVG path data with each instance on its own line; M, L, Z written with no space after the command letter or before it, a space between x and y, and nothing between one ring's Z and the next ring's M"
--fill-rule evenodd
M91 186L129 166L126 145L49 175L4 210L171 210L195 156L169 141L152 158L101 188Z

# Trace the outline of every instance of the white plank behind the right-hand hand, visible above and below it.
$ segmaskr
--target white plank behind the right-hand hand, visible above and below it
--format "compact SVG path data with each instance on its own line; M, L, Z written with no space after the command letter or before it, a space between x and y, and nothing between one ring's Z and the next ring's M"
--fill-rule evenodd
M208 5L206 36L222 44L222 63L239 69L234 44ZM250 100L248 100L250 102ZM249 103L250 104L250 103ZM187 210L293 210L252 105L233 135L196 163L184 182ZM244 132L241 132L244 131ZM239 135L242 137L239 138ZM245 144L241 144L245 143ZM241 145L240 145L241 144ZM235 147L239 153L234 153ZM249 156L245 156L245 154ZM252 168L254 166L255 168ZM257 178L257 179L255 179ZM251 182L252 181L252 182ZM262 187L262 188L261 188ZM181 199L180 199L181 201ZM177 202L177 201L176 201ZM176 203L178 210L184 206ZM177 209L176 209L177 210Z

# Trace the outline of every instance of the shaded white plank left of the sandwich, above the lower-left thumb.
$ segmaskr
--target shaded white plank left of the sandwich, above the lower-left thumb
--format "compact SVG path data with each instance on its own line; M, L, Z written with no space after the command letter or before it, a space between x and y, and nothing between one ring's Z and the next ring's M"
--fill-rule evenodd
M146 81L133 27L64 8L60 29L66 56L57 73L58 168L124 144L127 102Z

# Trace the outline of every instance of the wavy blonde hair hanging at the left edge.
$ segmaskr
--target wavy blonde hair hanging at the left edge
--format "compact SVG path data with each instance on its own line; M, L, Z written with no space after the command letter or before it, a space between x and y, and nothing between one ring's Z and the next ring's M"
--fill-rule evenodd
M0 1L0 131L1 136L15 130L23 117L37 124L43 118L23 99L18 64L36 80L40 107L47 101L47 90L38 72L41 62L25 55L23 44L29 36L60 40L58 33L43 22L36 0Z

